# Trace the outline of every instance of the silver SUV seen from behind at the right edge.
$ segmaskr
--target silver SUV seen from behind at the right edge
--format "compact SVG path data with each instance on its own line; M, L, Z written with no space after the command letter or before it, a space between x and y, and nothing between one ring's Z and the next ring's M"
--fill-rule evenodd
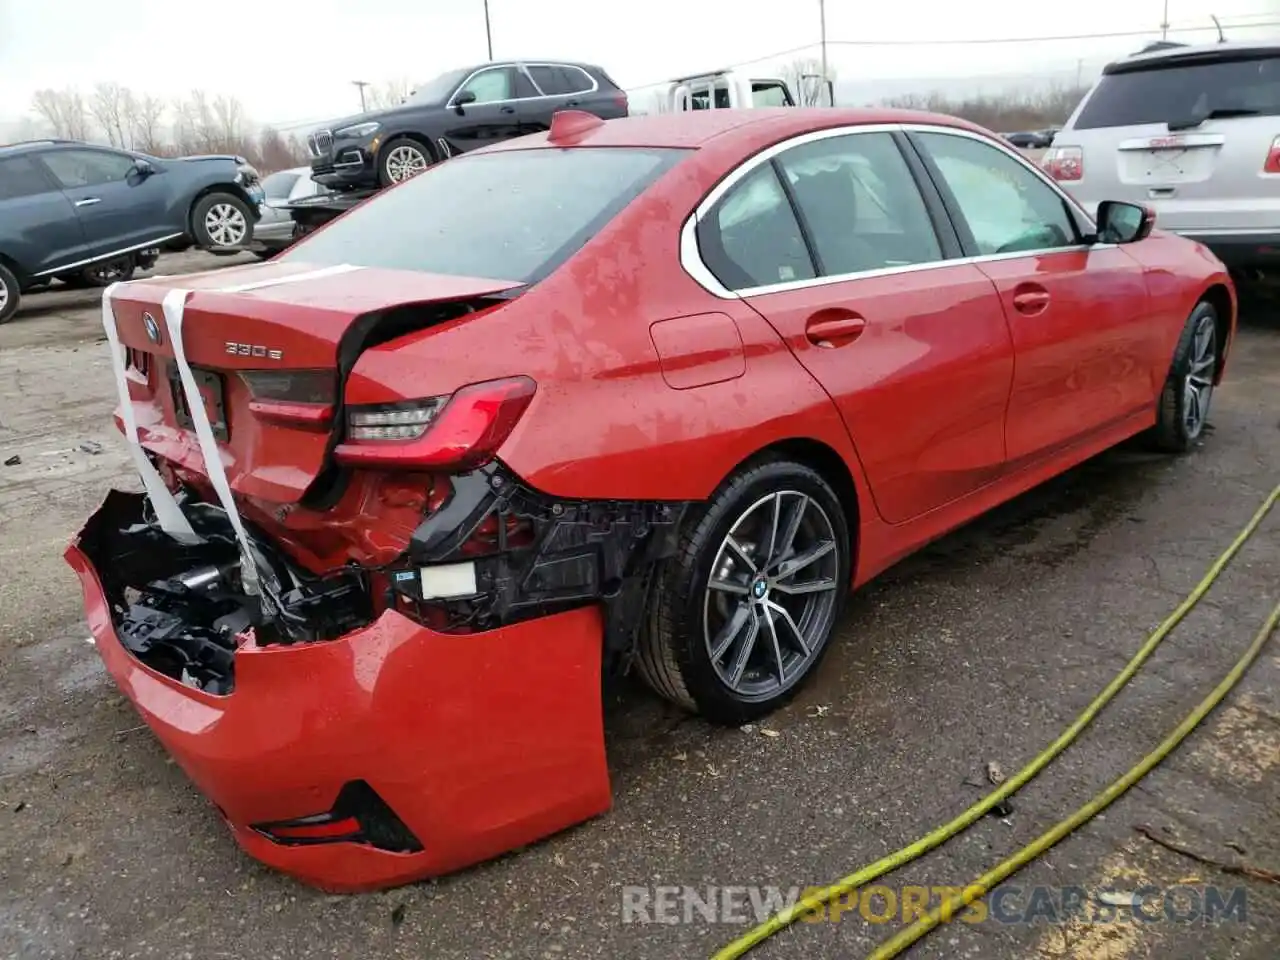
M1041 161L1089 212L1146 204L1242 279L1280 276L1280 44L1108 64Z

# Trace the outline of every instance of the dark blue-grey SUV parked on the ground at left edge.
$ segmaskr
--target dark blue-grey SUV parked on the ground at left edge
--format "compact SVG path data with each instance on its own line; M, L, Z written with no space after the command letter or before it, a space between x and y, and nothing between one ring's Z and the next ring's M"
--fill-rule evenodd
M151 266L160 247L244 248L262 187L239 156L161 160L92 143L0 146L0 323L51 280L101 285Z

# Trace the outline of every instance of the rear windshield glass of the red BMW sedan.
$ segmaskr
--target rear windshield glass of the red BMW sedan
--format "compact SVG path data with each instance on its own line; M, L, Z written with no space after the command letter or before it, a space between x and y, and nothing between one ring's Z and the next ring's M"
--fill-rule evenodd
M454 157L278 259L532 283L685 155L579 147Z

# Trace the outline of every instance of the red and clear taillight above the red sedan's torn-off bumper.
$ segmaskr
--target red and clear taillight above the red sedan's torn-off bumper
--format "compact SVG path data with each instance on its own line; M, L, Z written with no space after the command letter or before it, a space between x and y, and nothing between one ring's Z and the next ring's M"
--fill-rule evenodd
M347 407L346 442L334 453L351 466L472 470L493 460L535 389L513 376L449 397Z

